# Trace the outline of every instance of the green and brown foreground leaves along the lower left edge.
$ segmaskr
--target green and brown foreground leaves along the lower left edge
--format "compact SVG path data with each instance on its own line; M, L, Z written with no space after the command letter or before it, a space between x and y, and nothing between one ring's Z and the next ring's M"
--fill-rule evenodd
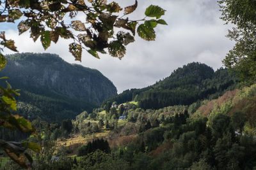
M6 79L6 77L1 78ZM17 110L17 103L15 96L19 96L18 90L13 90L11 85L6 81L7 88L0 87L0 126L11 130L19 130L21 132L28 132L37 136L35 128L32 127L31 122L19 115L12 115L12 110ZM31 156L26 153L29 148L35 152L40 152L40 147L36 143L18 143L14 141L0 140L0 146L4 151L17 162L21 167L27 168L26 159L33 162Z

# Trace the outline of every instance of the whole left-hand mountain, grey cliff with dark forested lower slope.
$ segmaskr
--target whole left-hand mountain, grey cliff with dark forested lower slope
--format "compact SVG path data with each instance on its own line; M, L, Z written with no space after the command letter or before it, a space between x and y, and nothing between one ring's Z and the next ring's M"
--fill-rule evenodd
M21 89L18 112L31 119L74 118L117 94L113 83L96 69L69 64L55 54L16 53L6 55L6 60L0 76L8 76L13 89Z

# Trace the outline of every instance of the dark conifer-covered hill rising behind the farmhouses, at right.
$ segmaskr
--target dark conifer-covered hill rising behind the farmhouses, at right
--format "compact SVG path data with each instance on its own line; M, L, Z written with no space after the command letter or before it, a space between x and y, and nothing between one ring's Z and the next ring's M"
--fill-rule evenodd
M214 99L226 90L237 85L234 74L227 69L214 71L212 67L199 62L192 62L179 67L173 73L154 85L143 89L125 90L122 94L111 97L106 103L125 103L138 101L140 108L158 109L173 105L188 105L205 98Z

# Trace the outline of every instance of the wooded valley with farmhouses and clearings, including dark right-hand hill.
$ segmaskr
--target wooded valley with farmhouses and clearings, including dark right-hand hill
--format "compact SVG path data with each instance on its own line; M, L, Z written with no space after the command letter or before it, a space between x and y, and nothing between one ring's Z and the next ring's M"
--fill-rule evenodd
M74 169L220 169L234 166L232 161L251 169L254 159L245 158L256 152L255 97L256 85L242 86L227 69L213 71L193 62L152 86L125 90L74 118L50 123L37 117L32 124L40 140L23 138L43 146L40 161L45 163L38 168L50 168L47 159L57 157L54 166ZM28 101L36 111L33 98ZM1 138L8 139L5 132L1 129ZM31 154L38 162L36 153Z

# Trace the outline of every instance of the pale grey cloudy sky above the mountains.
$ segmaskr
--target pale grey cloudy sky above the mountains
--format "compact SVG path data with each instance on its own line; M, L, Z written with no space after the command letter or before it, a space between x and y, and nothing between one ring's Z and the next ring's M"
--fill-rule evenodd
M122 7L134 4L134 1L127 0L116 2ZM56 45L52 43L44 50L39 40L34 43L29 38L29 31L19 36L17 24L5 24L0 31L6 31L6 38L15 41L19 52L56 53L69 63L98 69L114 83L118 93L152 85L189 62L205 63L214 70L223 66L221 60L234 42L225 37L230 25L224 25L220 19L216 1L138 0L138 8L129 19L143 18L150 4L166 10L163 19L168 25L157 25L156 41L148 42L136 36L135 42L127 46L122 60L104 54L96 59L84 50L82 62L77 62L68 52L70 40L59 39ZM5 50L4 53L13 52Z

